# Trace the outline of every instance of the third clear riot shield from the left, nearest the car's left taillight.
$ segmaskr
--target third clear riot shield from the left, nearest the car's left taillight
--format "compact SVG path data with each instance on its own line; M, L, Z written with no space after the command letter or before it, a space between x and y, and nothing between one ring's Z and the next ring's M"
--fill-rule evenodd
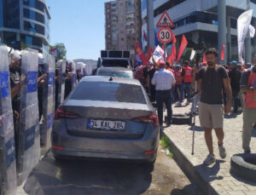
M41 146L44 147L44 151L48 151L51 146L50 134L55 112L55 57L49 55L47 61L45 69L48 77L43 89L43 124L40 129Z

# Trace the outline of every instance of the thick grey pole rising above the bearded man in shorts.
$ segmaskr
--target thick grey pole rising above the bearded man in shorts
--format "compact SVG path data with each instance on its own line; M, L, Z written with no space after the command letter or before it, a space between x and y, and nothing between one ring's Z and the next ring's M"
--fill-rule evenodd
M218 0L218 62L220 62L223 44L226 45L226 0ZM226 64L226 47L224 48L224 54L224 64Z

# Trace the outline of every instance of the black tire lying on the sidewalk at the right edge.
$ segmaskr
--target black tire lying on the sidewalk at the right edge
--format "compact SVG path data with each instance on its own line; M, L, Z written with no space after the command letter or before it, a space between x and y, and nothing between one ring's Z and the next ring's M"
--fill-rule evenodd
M235 154L231 158L230 172L247 181L256 182L256 154Z

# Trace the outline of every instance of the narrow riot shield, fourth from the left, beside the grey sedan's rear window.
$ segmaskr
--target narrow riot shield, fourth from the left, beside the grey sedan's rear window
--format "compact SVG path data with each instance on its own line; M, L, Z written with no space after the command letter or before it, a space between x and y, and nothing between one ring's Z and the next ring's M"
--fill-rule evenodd
M61 103L64 100L64 94L65 94L65 77L66 77L66 61L65 60L59 60L57 61L57 67L59 69L59 77L58 77L58 102L55 102L57 106L60 106Z

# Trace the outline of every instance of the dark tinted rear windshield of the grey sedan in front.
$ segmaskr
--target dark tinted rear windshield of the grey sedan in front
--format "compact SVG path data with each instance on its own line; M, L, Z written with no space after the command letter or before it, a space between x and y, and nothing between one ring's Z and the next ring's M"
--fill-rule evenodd
M81 82L74 89L70 100L102 100L147 104L141 86L114 82Z

